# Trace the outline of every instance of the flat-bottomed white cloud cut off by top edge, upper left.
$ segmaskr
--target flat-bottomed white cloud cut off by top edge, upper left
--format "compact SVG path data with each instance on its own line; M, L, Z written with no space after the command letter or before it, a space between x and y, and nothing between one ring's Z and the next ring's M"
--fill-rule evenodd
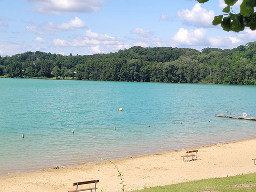
M27 0L43 14L98 12L105 0Z

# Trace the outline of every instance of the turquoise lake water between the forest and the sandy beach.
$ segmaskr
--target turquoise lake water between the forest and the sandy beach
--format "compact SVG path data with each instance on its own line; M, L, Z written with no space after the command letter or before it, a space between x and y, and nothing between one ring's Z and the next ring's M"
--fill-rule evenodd
M255 138L214 117L255 102L256 86L0 79L0 174Z

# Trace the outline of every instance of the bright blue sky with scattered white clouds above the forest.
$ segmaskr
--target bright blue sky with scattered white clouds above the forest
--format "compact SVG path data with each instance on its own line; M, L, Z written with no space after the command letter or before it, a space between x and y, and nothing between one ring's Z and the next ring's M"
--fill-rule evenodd
M232 49L256 41L248 28L235 33L212 25L224 6L224 0L0 0L0 55L87 55L132 46Z

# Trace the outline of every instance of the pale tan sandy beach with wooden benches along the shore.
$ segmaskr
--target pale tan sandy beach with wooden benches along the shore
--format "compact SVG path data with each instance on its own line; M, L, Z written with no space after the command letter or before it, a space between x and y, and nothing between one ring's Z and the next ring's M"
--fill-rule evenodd
M195 138L196 139L196 138ZM182 161L187 150L113 160L124 174L125 191L184 181L256 172L256 139L202 146L198 160ZM60 169L0 175L0 192L68 192L73 182L99 179L98 192L120 192L118 172L109 161ZM84 186L86 187L86 186Z

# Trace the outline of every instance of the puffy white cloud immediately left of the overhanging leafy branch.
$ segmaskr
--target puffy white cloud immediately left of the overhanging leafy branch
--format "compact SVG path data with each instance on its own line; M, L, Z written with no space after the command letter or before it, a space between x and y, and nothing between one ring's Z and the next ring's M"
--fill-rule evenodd
M188 9L178 11L177 16L184 19L183 24L193 25L197 27L213 27L214 11L207 11L201 7L200 3L196 3L191 11Z

